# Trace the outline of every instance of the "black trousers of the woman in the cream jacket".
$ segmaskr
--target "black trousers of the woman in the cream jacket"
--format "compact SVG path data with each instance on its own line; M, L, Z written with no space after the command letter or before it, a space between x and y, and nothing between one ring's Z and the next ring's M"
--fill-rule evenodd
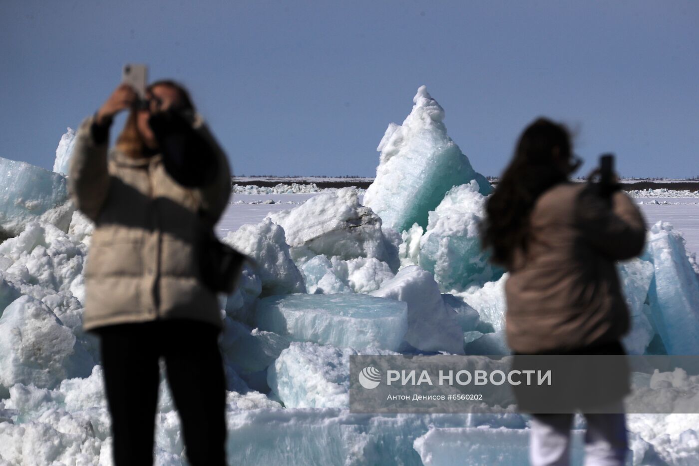
M153 464L155 413L163 358L194 466L226 464L226 383L219 329L194 320L110 325L101 337L117 466Z

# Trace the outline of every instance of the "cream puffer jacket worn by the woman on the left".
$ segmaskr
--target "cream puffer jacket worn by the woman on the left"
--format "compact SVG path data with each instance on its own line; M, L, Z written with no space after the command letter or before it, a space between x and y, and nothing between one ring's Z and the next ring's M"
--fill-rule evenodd
M85 268L83 327L188 318L222 326L214 292L199 279L201 209L212 222L231 192L226 156L199 115L192 125L215 149L219 169L203 188L184 188L161 155L134 159L92 139L92 117L75 136L69 189L95 229Z

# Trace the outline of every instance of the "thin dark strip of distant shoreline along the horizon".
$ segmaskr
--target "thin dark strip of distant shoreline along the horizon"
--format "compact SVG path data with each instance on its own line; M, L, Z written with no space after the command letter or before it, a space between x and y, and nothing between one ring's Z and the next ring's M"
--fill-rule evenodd
M356 186L357 188L366 189L373 182L373 178L315 178L312 176L305 178L294 177L245 177L233 178L233 184L239 186L259 186L261 188L273 188L278 184L291 185L310 185L315 183L318 188L347 188L348 186ZM577 180L576 180L577 181ZM491 180L492 185L496 185L497 180ZM633 190L688 190L691 192L699 191L699 180L623 180L621 188L625 191Z

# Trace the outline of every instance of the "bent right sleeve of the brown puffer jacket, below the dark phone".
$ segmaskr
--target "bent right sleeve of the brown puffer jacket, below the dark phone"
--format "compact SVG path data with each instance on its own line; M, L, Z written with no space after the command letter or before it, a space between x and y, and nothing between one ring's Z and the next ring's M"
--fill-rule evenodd
M577 199L576 217L589 243L612 260L639 255L646 239L641 211L623 191L603 199L593 190L584 190Z

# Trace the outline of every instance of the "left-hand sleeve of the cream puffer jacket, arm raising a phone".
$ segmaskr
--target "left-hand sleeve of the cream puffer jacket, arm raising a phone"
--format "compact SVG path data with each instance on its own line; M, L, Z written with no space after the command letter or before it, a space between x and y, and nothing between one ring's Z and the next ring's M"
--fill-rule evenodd
M75 135L71 155L68 188L75 202L87 218L96 221L109 191L107 168L109 142L96 143L91 131L93 117L85 118Z

